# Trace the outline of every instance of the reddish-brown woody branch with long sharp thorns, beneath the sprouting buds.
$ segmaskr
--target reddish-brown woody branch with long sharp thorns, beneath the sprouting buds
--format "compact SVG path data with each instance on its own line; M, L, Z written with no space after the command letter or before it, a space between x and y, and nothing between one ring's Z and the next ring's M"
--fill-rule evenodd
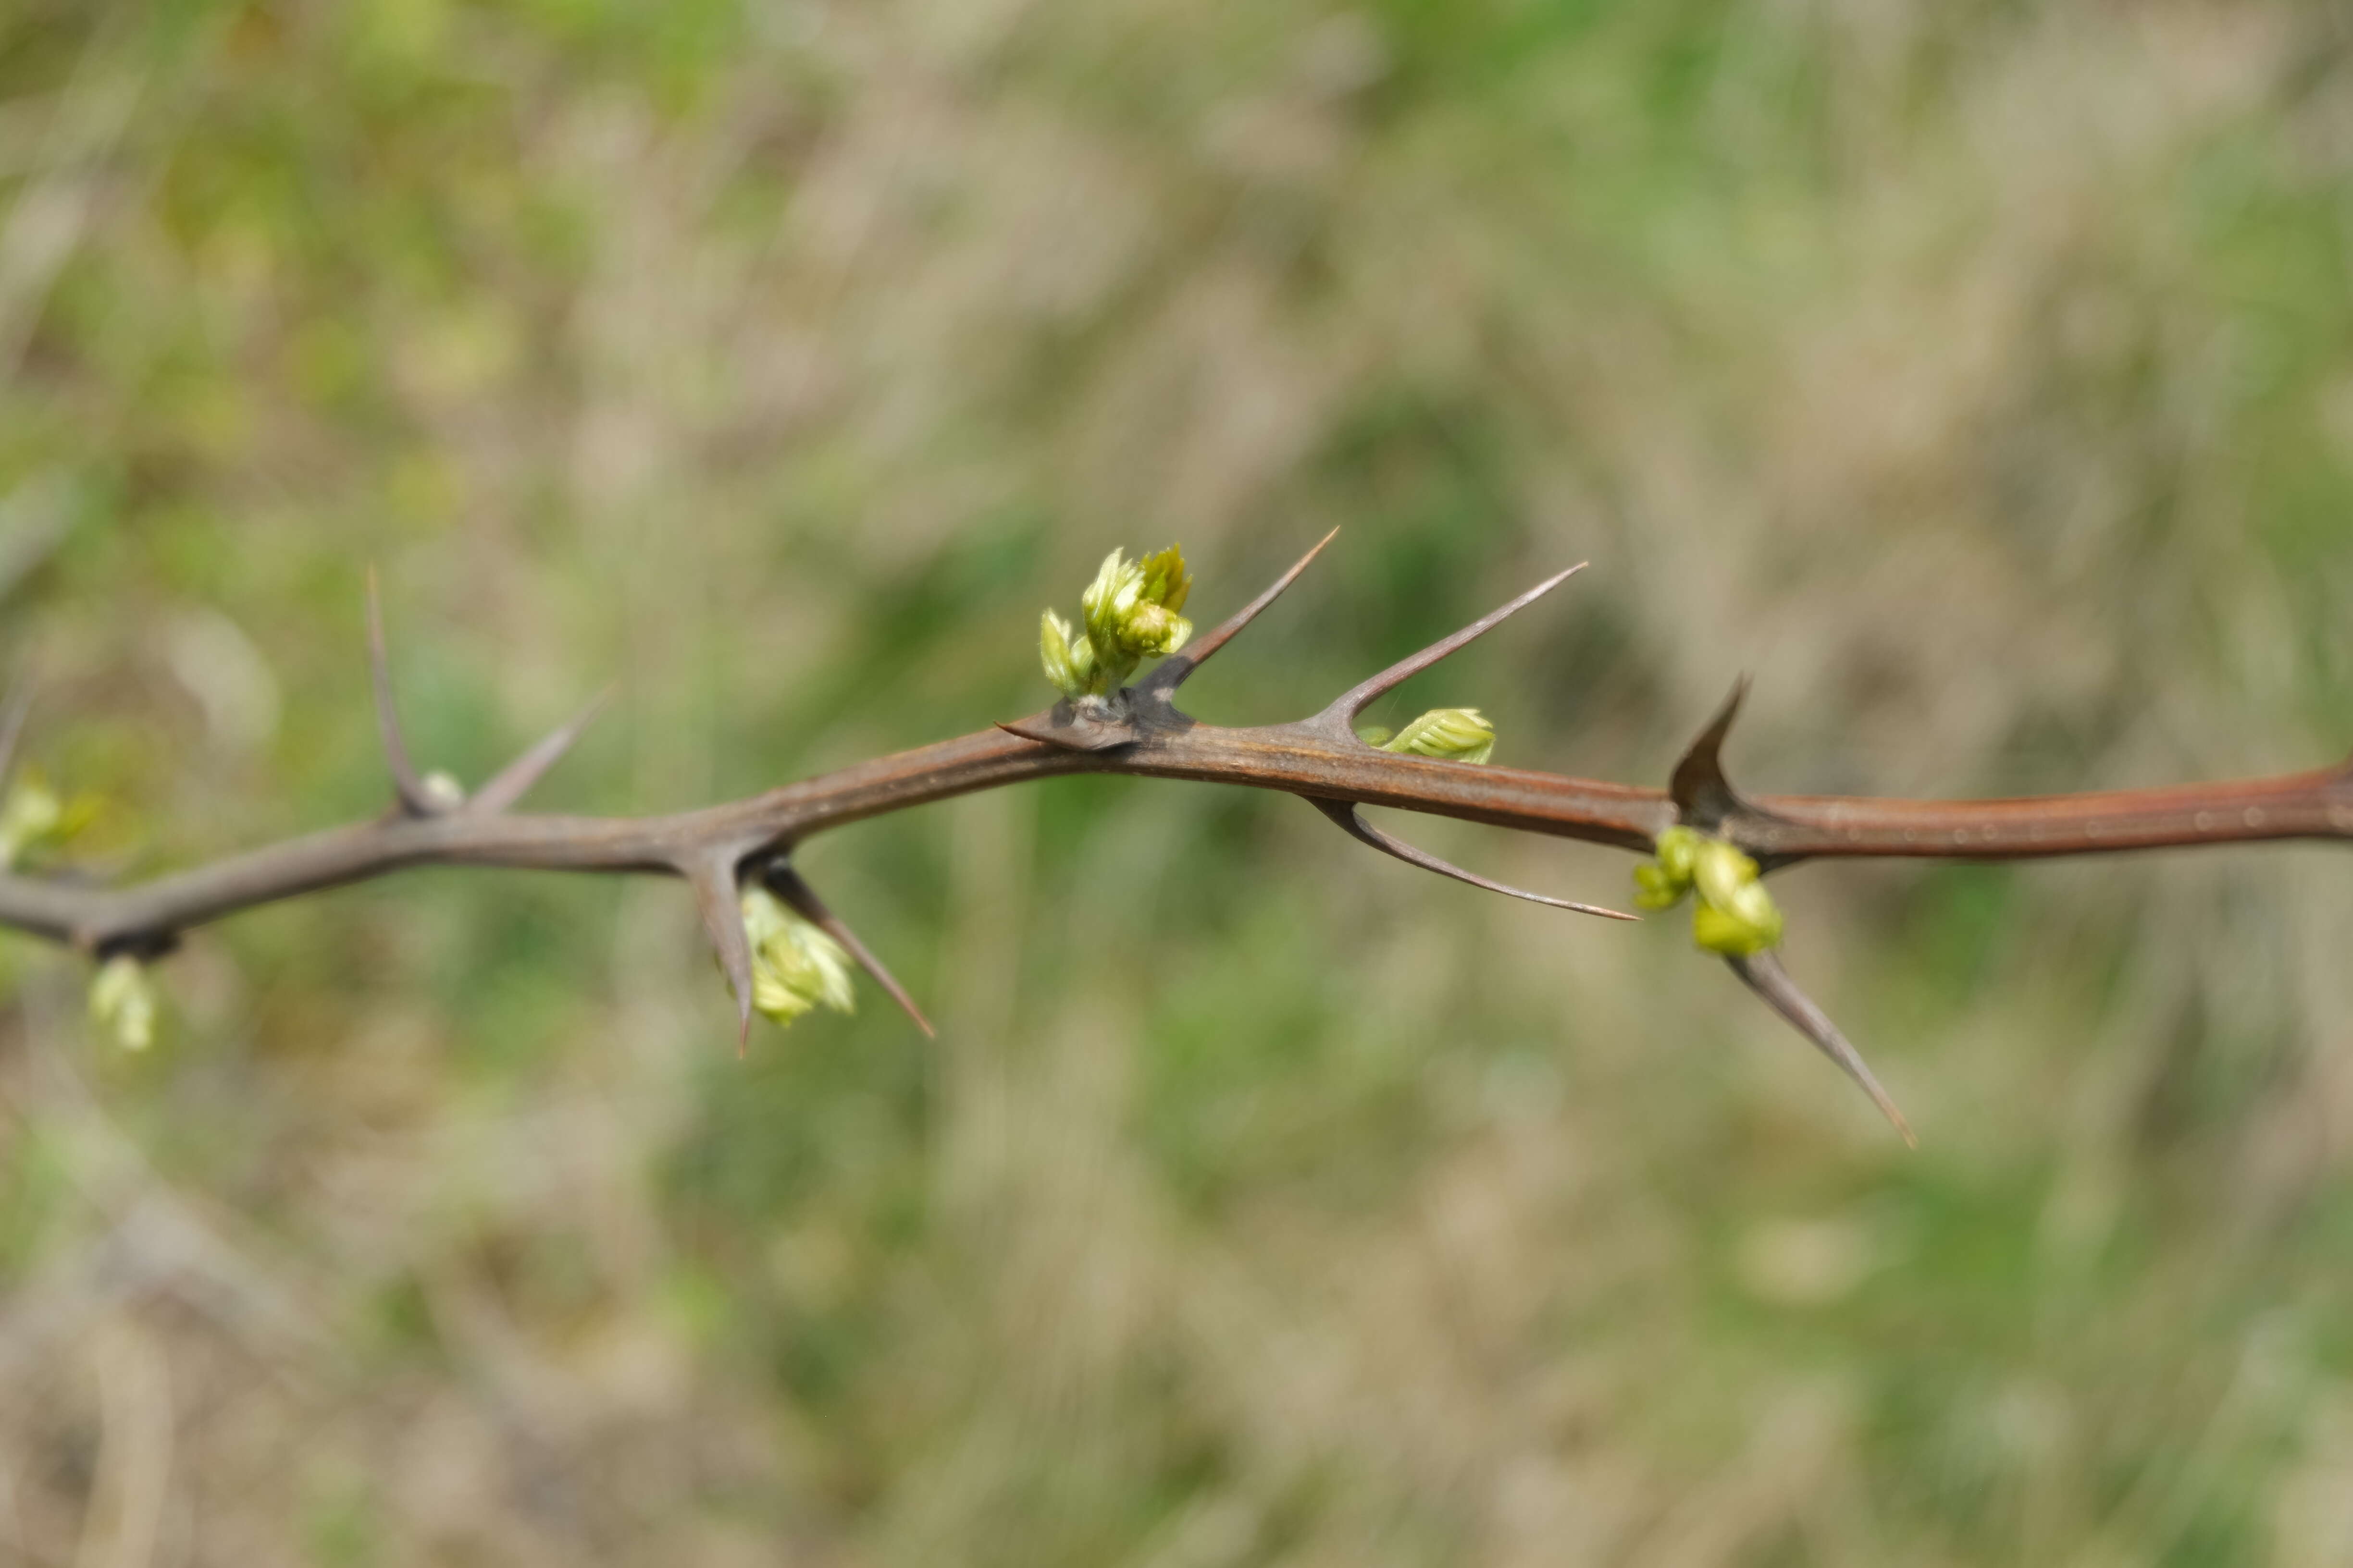
M748 1030L753 954L736 900L744 886L760 884L831 933L929 1032L932 1025L882 961L793 870L793 849L816 832L868 816L1056 773L1134 773L1285 790L1384 853L1513 898L1612 919L1633 917L1527 893L1447 865L1367 823L1362 806L1426 811L1633 851L1649 851L1668 827L1692 827L1746 851L1765 872L1831 856L2017 860L2254 839L2353 839L2353 762L2280 778L2031 799L1751 797L1729 783L1720 759L1744 686L1734 689L1689 745L1668 790L1398 755L1355 736L1353 722L1367 703L1548 595L1577 567L1374 675L1313 717L1228 729L1181 712L1179 686L1273 604L1327 543L1329 534L1266 592L1134 686L1111 696L1066 698L1012 724L861 762L748 799L642 818L513 811L602 698L473 795L447 773L419 773L393 705L384 621L369 581L367 642L376 719L393 773L391 811L129 886L0 875L0 926L66 943L96 959L153 959L169 952L191 926L409 865L673 875L694 891L734 987L741 1027ZM26 684L0 705L0 785L7 783L26 705ZM1911 1138L1861 1056L1795 987L1772 952L1727 961Z

